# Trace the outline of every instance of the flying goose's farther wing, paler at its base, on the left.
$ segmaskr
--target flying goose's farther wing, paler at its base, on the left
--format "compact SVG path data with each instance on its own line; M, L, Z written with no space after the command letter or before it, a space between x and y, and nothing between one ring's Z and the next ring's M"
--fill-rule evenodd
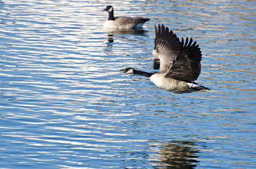
M180 39L168 27L155 26L155 52L160 59L160 73L166 73L181 50Z

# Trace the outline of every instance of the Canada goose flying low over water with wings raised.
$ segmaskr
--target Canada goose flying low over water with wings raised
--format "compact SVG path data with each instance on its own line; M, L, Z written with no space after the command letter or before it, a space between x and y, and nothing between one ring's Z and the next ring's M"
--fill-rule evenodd
M154 53L160 59L159 73L147 73L133 68L125 68L122 72L130 74L140 74L150 78L150 81L155 83L164 90L184 93L199 90L210 90L207 87L201 86L194 81L198 78L201 72L202 54L197 42L192 44L193 39L177 38L172 30L168 27L162 27L160 24L155 26L155 50Z

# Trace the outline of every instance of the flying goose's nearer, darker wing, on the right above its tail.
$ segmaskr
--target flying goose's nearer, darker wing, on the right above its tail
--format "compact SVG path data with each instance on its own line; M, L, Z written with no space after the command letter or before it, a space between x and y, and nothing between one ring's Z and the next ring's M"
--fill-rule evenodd
M182 49L180 54L173 61L171 68L166 73L166 77L170 77L179 81L193 82L196 81L201 73L202 54L197 42L192 45L193 39L181 39Z

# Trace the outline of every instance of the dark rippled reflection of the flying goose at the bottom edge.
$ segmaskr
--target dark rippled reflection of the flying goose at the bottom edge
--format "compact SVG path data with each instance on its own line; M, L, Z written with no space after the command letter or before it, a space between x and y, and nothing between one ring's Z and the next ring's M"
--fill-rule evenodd
M172 141L160 150L160 162L158 168L195 168L198 158L197 150L193 149L194 143L191 141Z

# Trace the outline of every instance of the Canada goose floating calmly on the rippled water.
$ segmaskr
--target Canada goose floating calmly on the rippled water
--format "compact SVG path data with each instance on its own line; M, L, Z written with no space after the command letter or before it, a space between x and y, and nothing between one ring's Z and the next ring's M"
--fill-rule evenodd
M114 17L114 9L112 6L107 6L103 11L109 12L109 19L107 19L107 21L103 25L103 27L105 28L141 28L146 21L150 20L143 17Z

